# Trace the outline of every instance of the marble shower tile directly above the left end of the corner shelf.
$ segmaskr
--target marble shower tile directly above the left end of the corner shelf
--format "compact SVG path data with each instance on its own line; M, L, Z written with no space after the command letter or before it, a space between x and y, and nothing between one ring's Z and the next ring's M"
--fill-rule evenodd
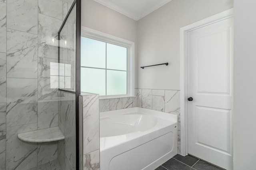
M37 122L37 79L7 78L6 126Z

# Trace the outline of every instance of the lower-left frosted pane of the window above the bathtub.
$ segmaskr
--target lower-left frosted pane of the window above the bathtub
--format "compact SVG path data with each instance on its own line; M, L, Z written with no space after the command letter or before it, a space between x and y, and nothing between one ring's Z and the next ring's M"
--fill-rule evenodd
M81 68L81 92L106 95L106 70Z

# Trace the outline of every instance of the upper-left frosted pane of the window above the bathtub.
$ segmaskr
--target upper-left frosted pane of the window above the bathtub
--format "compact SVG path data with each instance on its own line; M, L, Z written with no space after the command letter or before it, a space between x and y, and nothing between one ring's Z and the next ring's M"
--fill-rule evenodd
M81 66L106 68L106 43L81 37Z

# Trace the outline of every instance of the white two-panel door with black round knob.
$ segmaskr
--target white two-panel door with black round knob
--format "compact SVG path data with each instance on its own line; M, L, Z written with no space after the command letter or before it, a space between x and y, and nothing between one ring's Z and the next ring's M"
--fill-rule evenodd
M232 169L233 18L187 34L188 153Z

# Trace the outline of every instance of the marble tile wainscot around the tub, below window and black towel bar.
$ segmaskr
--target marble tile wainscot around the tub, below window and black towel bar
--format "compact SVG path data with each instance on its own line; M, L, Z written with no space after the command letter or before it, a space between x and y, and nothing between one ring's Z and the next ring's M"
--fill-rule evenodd
M136 97L100 100L100 112L142 107L178 115L178 153L180 153L180 90L136 90Z

